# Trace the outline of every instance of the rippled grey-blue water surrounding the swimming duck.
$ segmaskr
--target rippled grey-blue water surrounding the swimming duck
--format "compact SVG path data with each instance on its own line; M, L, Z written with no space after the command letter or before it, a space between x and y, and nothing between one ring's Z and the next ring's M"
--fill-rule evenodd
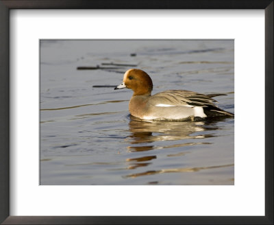
M233 118L138 121L131 90L92 87L132 67L234 112L233 40L41 40L40 185L234 185Z

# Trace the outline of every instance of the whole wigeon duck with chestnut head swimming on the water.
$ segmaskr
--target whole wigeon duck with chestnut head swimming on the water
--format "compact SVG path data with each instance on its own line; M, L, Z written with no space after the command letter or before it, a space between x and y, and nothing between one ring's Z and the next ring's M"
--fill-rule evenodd
M195 117L234 116L214 104L216 100L212 97L224 94L203 95L193 91L169 90L151 95L152 80L140 69L127 70L123 83L114 90L121 88L130 88L134 91L129 101L129 112L140 119L193 120Z

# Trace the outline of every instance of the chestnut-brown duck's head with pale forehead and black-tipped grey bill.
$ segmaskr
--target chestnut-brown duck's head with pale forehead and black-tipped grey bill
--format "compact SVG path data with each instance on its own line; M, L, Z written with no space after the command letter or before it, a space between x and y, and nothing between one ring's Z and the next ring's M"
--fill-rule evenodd
M133 95L151 95L153 83L149 75L140 69L129 69L125 72L123 83L114 90L129 88L134 91Z

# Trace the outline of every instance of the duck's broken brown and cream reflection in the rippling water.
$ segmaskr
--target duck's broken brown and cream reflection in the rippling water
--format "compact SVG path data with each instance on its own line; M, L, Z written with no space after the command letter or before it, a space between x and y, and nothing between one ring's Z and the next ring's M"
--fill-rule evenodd
M214 132L210 131L219 129L218 126L212 126L212 124L214 125L216 121L142 121L132 116L130 116L130 119L129 132L131 132L131 134L125 140L129 143L127 150L129 150L129 152L144 153L143 156L140 157L127 158L127 169L136 169L138 167L147 167L151 165L152 161L155 160L157 156L155 154L147 155L147 152L150 150L168 148L179 149L179 152L176 152L175 154L166 154L167 157L179 157L184 156L185 154L190 154L191 151L189 151L189 148L184 147L191 145L211 144L210 142L197 140L214 137ZM182 143L177 143L179 140L183 140ZM155 143L156 141L157 143ZM159 141L164 141L163 145L160 145ZM176 141L176 143L173 141ZM155 145L152 143L155 143ZM200 169L205 168L178 168L170 170L162 169L159 171L145 171L143 173L130 174L125 176L125 178L134 178L137 176L145 176L163 172L166 173L171 171L199 171Z

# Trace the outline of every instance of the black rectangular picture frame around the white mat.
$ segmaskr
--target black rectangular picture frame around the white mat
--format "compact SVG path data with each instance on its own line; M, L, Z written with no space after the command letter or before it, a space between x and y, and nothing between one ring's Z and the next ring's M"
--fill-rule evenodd
M273 5L273 0L0 0L0 222L2 224L273 224ZM265 216L10 216L9 11L11 9L264 9Z

